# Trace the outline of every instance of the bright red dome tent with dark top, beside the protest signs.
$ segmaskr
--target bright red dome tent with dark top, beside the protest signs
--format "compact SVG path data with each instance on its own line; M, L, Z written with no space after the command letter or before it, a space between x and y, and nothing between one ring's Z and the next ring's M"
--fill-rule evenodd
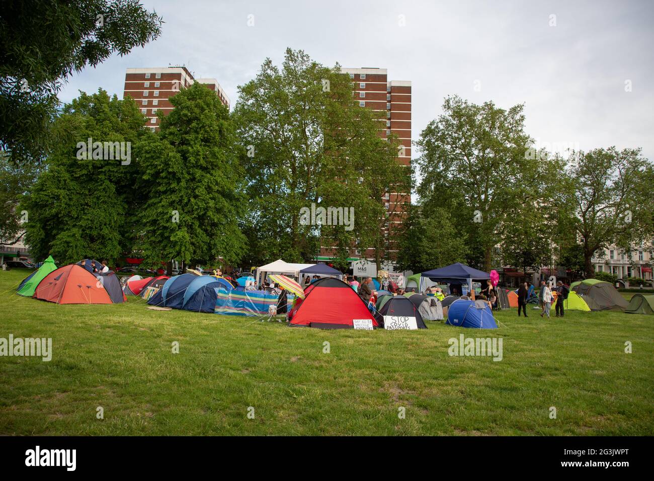
M379 327L363 300L340 279L324 277L304 292L304 300L288 313L291 327L353 329L354 319L370 319L374 327Z

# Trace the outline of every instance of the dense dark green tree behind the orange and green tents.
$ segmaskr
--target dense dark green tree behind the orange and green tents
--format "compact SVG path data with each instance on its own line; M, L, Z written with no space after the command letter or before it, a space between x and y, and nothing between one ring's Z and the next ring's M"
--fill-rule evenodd
M53 129L46 169L21 204L31 254L63 263L115 260L131 249L139 198L131 145L147 133L145 118L133 99L100 89L65 105Z

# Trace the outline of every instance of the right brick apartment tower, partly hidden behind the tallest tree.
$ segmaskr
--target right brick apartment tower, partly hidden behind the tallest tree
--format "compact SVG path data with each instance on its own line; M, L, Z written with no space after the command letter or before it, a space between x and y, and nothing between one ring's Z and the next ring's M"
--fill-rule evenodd
M350 76L354 83L354 97L360 107L386 113L385 128L381 128L379 136L383 139L396 134L404 152L398 152L398 162L404 166L411 164L411 82L407 80L388 80L387 69L343 68L341 71ZM407 170L407 175L409 171ZM385 204L389 212L388 225L385 232L388 236L388 257L394 258L398 252L396 234L401 231L406 216L407 205L411 204L411 192L395 192L392 187L386 194ZM332 250L320 248L318 260L330 260ZM350 251L351 260L374 259L373 249L365 252Z

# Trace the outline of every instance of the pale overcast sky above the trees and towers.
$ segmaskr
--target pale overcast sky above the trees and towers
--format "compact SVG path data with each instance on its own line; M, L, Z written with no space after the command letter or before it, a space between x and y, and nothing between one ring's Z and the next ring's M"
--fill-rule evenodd
M324 65L381 67L389 80L411 80L414 140L443 98L458 94L504 108L525 103L528 134L553 150L642 147L654 159L652 1L143 3L163 17L159 39L84 69L62 101L99 87L122 98L126 68L185 64L217 79L233 107L237 86L266 57L279 65L290 46Z

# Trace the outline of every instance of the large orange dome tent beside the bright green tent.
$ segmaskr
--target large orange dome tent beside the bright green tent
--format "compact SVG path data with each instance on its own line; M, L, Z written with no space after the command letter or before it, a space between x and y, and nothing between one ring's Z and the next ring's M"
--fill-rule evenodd
M102 284L77 264L50 272L39 283L33 297L57 304L112 304Z

